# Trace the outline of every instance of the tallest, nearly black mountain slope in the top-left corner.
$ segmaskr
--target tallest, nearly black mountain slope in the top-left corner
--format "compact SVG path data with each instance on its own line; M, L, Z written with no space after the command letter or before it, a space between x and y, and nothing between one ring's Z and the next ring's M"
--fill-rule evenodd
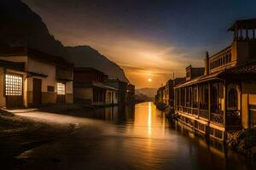
M61 42L49 34L40 16L19 0L0 1L0 45L26 46L61 56L67 54Z

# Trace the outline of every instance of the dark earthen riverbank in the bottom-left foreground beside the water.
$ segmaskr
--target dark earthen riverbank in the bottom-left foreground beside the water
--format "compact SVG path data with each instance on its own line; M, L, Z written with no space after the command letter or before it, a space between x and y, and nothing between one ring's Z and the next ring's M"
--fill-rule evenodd
M0 159L1 167L13 169L19 166L21 154L42 144L48 144L72 133L73 124L44 122L42 120L0 114Z

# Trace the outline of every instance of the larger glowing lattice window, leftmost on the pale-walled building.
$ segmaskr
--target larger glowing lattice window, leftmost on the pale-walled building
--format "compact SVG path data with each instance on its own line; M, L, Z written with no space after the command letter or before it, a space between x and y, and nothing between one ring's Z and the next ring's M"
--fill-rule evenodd
M5 75L5 94L8 96L22 95L22 77Z

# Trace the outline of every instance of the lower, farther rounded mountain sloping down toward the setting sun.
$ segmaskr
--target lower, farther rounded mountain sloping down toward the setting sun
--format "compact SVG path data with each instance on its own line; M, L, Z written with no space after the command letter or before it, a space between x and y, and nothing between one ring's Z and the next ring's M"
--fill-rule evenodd
M77 67L93 67L104 73L108 73L109 78L118 77L123 82L129 82L125 77L125 72L109 60L104 55L100 54L96 49L90 46L67 47L67 60L75 64Z

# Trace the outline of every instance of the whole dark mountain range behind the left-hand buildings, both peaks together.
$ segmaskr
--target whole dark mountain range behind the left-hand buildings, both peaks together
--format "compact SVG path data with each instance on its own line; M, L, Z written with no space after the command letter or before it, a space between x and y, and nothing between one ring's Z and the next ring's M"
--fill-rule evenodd
M0 1L0 46L35 48L74 60L75 64L94 67L111 78L128 82L119 65L99 54L96 49L89 46L64 47L49 33L41 17L20 0Z

